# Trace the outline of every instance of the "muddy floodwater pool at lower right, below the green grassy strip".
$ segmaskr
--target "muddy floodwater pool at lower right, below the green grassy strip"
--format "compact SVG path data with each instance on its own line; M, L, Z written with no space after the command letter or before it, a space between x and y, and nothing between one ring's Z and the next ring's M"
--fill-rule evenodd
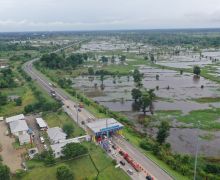
M156 137L157 129L151 128L147 132ZM167 142L171 143L174 152L194 155L198 136L199 155L220 156L220 131L208 132L192 128L171 128Z

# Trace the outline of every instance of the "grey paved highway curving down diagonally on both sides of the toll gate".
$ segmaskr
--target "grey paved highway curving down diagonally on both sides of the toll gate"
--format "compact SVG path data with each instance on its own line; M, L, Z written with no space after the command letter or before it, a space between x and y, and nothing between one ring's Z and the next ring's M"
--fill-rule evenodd
M65 48L68 48L68 47L65 47ZM33 63L38 60L39 58L35 58L33 60L26 62L22 66L23 70L49 94L51 90L55 91L56 96L64 104L63 105L64 110L69 114L69 116L74 121L77 121L77 116L78 116L78 122L77 122L78 125L81 126L83 129L86 129L82 121L87 123L88 120L95 119L95 117L85 109L82 109L82 111L78 113L77 108L76 108L76 103L72 101L69 94L67 94L61 88L54 88L50 86L49 83L52 83L52 82L45 75L43 75L42 73L40 73L33 67ZM159 166L157 166L154 162L148 159L143 153L141 153L136 147L131 145L129 142L127 142L123 138L114 137L113 142L117 146L119 146L119 148L126 151L136 162L138 162L144 168L145 171L147 171L149 174L155 177L155 179L158 179L158 180L172 180L173 179L165 171L163 171ZM137 179L137 178L133 177L133 179ZM145 177L141 176L138 179L145 179Z

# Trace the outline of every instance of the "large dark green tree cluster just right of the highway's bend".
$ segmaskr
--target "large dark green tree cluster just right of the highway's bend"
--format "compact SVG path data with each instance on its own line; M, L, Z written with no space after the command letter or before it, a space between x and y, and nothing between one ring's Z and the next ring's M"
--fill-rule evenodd
M88 60L87 54L72 54L71 56L65 58L64 56L59 56L56 53L44 54L40 62L43 66L51 69L75 69L77 66L83 64Z

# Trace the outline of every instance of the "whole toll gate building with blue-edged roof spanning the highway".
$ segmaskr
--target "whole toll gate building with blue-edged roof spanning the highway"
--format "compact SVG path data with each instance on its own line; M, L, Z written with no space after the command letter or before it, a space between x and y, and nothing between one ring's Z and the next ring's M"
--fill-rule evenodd
M123 125L113 118L97 119L87 124L87 130L93 141L100 141L104 136L110 137L113 134L121 134Z

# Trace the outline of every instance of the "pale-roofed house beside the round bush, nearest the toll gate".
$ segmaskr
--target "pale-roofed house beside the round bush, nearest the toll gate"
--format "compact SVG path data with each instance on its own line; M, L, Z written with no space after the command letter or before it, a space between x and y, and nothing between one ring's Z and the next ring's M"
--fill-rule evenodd
M63 132L63 130L59 127L49 128L47 130L48 137L52 144L58 143L61 140L65 140L67 134Z

